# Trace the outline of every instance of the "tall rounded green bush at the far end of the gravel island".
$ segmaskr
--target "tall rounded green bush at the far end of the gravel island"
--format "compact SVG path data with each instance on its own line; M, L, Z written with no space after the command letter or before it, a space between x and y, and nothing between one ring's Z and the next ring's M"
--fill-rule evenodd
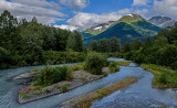
M91 74L101 75L106 65L106 57L100 53L88 53L85 61L85 69Z

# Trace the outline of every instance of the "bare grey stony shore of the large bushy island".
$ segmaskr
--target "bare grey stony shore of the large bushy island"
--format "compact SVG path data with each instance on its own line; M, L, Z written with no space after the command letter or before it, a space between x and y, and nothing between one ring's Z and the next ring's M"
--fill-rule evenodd
M104 71L107 71L107 68L105 68ZM31 75L33 75L33 74L27 73L27 74L17 76L14 79L31 77ZM85 71L75 71L75 72L73 72L73 77L74 77L74 79L71 82L64 80L64 82L60 82L58 84L50 85L44 88L33 88L32 86L28 86L30 88L30 90L27 91L28 96L24 98L23 96L20 95L20 91L19 91L18 102L25 104L25 102L34 101L34 100L45 98L45 97L49 97L52 95L62 94L63 93L62 85L64 85L64 84L69 84L70 86L67 87L67 90L71 90L71 89L80 87L84 84L87 84L90 82L102 78L104 76L103 75L92 75ZM22 89L25 89L25 88L22 88Z

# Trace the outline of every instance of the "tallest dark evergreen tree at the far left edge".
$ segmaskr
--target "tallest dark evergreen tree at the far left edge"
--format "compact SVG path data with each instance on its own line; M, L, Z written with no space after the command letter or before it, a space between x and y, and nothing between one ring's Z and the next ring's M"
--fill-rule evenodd
M18 21L9 11L4 10L0 15L0 46L7 50L13 50L15 47L19 36Z

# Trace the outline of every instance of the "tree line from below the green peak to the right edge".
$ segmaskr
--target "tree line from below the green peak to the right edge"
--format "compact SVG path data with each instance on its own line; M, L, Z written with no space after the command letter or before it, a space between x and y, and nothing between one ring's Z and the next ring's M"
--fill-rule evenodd
M124 57L135 63L157 64L177 68L177 23L162 30L145 42L134 40L122 46L116 37L91 41L90 50L100 53L113 53L112 56Z

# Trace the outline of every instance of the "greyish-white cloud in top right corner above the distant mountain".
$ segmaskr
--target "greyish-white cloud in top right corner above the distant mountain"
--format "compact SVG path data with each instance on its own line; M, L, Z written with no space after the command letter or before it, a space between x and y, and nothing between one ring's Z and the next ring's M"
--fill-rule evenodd
M150 13L177 19L177 0L156 0Z

